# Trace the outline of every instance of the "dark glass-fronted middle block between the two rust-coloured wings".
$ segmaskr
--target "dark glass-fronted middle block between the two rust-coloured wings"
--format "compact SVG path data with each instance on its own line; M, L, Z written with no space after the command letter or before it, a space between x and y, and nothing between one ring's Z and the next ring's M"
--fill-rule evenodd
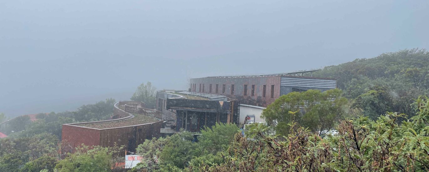
M157 92L157 110L176 119L170 120L161 133L181 130L198 132L216 123L239 124L239 102L226 96L189 91Z

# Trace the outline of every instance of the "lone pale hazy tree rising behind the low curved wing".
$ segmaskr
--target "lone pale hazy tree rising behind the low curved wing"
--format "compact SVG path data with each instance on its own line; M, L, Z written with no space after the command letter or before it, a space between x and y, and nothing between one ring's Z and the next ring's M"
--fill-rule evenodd
M154 86L152 86L151 82L142 83L137 87L136 92L134 92L133 96L131 97L131 100L133 101L141 101L146 103L147 108L155 108L156 105L156 90Z

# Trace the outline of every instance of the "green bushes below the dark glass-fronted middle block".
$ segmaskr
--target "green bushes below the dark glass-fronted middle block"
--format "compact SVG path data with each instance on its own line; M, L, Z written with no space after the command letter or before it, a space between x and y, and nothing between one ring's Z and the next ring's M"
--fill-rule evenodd
M233 141L239 128L233 124L216 124L202 130L197 137L190 132L181 132L165 138L146 140L137 148L143 157L132 171L179 171L190 163L221 163L218 157Z

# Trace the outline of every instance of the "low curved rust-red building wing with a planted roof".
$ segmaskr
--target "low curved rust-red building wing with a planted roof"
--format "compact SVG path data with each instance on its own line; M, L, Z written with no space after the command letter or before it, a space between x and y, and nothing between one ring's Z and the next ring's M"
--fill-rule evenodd
M124 150L133 152L136 146L143 143L145 139L151 139L152 137L159 138L161 136L160 129L163 127L163 120L148 124L103 129L82 126L84 124L103 124L133 118L132 114L120 109L118 104L115 104L114 116L121 118L107 121L63 124L61 137L63 153L73 152L74 148L82 144L88 146L100 145L103 147L112 147L117 144L123 145ZM130 104L130 102L124 102L123 104Z

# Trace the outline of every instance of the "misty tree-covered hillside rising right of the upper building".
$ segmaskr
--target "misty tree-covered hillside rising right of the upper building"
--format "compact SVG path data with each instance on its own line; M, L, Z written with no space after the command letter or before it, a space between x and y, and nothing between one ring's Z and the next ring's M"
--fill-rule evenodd
M326 66L313 76L337 78L344 96L355 99L353 106L372 118L386 111L412 116L413 99L428 95L429 52L415 48L384 53Z

